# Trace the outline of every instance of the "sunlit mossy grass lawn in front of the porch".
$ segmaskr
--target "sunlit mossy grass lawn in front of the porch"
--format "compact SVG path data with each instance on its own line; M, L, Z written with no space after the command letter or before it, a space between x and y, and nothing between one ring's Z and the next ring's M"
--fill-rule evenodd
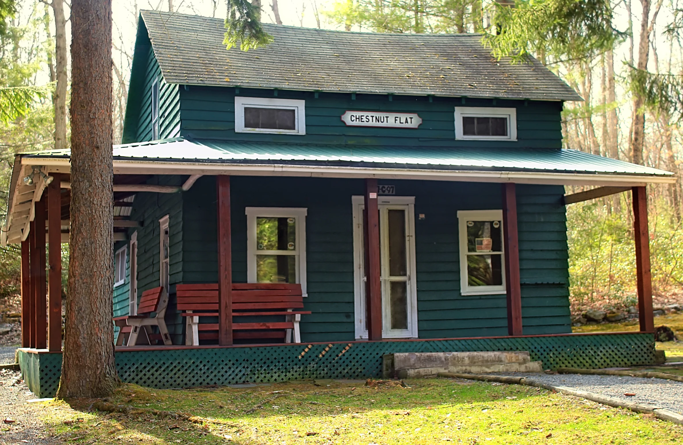
M394 382L395 383L395 382ZM675 444L683 426L528 386L410 380L410 387L319 381L255 388L154 390L124 385L92 400L40 402L67 443L97 444ZM189 420L154 414L184 412Z

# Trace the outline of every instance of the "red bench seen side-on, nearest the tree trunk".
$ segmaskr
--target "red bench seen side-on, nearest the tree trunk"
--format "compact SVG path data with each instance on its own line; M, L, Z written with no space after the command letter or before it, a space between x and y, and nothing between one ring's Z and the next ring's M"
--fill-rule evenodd
M137 337L140 333L146 337L151 345L152 340L162 340L165 345L171 344L171 337L166 328L164 316L168 305L168 295L164 288L154 288L142 292L140 303L137 307L137 316L124 316L114 318L114 324L119 326L119 335L116 337L116 346L122 346L124 339L128 335L126 346L135 346ZM156 316L150 315L156 312ZM152 326L158 326L159 333L153 334Z

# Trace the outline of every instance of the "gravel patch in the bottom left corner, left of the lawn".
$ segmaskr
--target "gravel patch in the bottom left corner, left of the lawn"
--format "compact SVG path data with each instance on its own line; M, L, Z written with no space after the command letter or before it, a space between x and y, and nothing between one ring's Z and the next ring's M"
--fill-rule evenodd
M53 445L60 444L45 429L39 420L38 411L44 409L41 403L26 403L36 395L21 380L18 371L0 370L0 444ZM2 420L12 419L14 423L5 424ZM21 442L21 441L25 442Z

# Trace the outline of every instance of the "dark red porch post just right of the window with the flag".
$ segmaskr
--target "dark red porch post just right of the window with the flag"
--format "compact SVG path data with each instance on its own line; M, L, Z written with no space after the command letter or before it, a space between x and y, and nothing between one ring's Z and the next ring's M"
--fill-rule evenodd
M522 290L519 277L517 197L514 183L503 183L503 251L505 252L505 294L507 335L522 335Z

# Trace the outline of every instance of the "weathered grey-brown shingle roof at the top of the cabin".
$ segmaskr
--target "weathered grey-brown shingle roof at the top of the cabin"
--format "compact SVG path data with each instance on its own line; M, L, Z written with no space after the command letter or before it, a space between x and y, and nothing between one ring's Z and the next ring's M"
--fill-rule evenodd
M497 61L478 34L389 34L264 24L275 42L225 50L223 20L142 11L165 80L303 91L582 100L541 63Z

